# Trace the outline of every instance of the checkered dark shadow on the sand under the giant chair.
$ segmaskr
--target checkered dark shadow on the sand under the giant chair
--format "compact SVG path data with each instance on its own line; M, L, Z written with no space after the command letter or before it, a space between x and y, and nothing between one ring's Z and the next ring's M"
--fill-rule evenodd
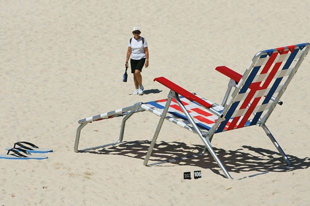
M87 152L100 155L121 155L144 160L149 144L150 141L148 140L130 141L120 143L117 146L100 148L96 151ZM282 161L282 157L277 152L251 146L243 145L242 149L234 151L226 151L215 147L213 147L213 149L218 155L218 158L222 160L228 172L241 173L253 171L258 173L248 177L267 172L287 172L306 169L310 166L310 158L308 157L301 159L293 155L287 155L292 163L291 167L287 167ZM173 165L196 166L203 169L210 169L213 173L225 177L219 173L220 168L211 155L206 153L205 155L198 155L197 157L197 153L202 150L202 145L188 146L180 142L161 141L155 145L150 159L156 163L149 164L148 166L159 166L163 163L170 163L161 165L166 167ZM142 162L143 161L141 161L141 164Z

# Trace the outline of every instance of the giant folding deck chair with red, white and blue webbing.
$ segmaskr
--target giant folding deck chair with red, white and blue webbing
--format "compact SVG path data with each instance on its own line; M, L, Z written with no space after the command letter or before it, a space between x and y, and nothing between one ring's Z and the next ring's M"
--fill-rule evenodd
M88 151L122 142L125 122L134 113L149 111L160 117L143 165L147 165L164 119L196 133L204 144L201 154L209 151L224 176L231 178L211 146L216 133L249 126L262 127L288 166L289 159L276 142L265 123L274 107L282 102L280 97L308 53L309 43L263 50L252 58L244 74L219 66L215 70L230 78L222 103L216 104L194 93L190 93L164 77L155 78L170 89L167 99L138 102L119 110L99 114L78 121L74 151ZM232 88L234 90L231 92ZM78 150L80 130L98 120L123 116L119 139L115 143Z

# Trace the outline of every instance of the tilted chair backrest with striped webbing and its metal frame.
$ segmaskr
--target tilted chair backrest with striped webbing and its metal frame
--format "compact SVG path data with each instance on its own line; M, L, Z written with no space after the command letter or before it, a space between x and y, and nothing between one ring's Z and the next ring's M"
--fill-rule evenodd
M309 47L302 43L258 52L224 106L225 120L214 125L215 133L264 124Z

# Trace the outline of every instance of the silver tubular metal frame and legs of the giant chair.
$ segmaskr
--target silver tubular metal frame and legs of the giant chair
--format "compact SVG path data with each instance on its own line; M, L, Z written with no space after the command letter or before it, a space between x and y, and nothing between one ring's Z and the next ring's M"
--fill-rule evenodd
M270 108L268 109L268 111L266 112L266 114L262 117L259 118L257 123L255 124L256 126L262 127L263 131L266 133L266 135L269 137L269 139L271 140L271 142L273 143L273 145L275 146L275 148L278 150L278 152L280 153L280 155L282 156L282 158L284 159L285 163L287 164L287 166L291 166L291 163L289 161L289 159L287 158L286 154L283 152L283 150L281 149L281 147L279 146L279 144L277 143L277 141L275 140L275 138L273 137L273 135L271 134L271 132L269 131L269 129L266 127L265 123L268 119L268 117L270 116L270 114L272 113L274 107L276 106L276 104L282 105L283 102L281 102L279 99L282 96L283 92L285 91L285 89L287 88L287 85L289 84L289 82L291 81L293 75L295 74L295 72L297 71L298 67L300 66L302 60L304 59L304 57L306 56L306 54L308 53L308 50L310 48L309 43L305 44L305 50L302 53L302 55L300 56L298 62L295 64L293 70L291 71L291 73L289 74L288 78L286 79L285 83L283 84L283 86L281 87L280 91L278 92L276 97L271 97L271 101L272 101L272 106L270 106ZM284 47L282 47L284 48ZM248 67L248 69L245 71L245 73L243 74L243 76L247 77L247 75L249 74L249 72L251 71L251 69L254 68L255 66L255 62L256 60L262 56L265 55L268 52L268 50L266 51L261 51L258 52L252 59L252 63L250 64L250 66ZM160 82L161 83L161 82ZM224 116L227 113L228 109L230 108L231 104L233 103L234 98L236 97L236 95L238 94L238 91L240 91L240 88L244 85L244 80L242 81L240 79L240 82L237 82L235 79L230 78L228 85L227 85L227 90L225 92L225 95L223 97L221 106L224 107L223 112L222 113L218 113L217 111L215 111L214 109L212 109L212 107L210 108L206 108L207 110L209 110L211 113L215 114L218 116L217 121L215 122L215 124L212 126L212 128L210 130L208 130L207 132L202 132L197 124L195 123L195 121L193 120L193 118L190 116L190 114L188 113L188 111L186 110L185 106L182 104L181 100L179 99L179 94L176 91L174 91L173 89L170 88L169 94L167 96L167 101L165 103L165 107L162 111L162 113L158 112L158 111L153 111L151 109L147 109L143 106L142 102L138 102L132 106L123 108L121 110L115 110L112 112L108 112L108 113L104 113L101 115L96 115L93 116L91 118L85 118L82 120L79 120L78 123L80 124L79 127L77 128L76 131L76 137L75 137L75 143L74 143L74 151L75 152L84 152L84 151L89 151L89 150L94 150L94 149L98 149L98 148L102 148L102 147L107 147L107 146L111 146L111 145L117 145L119 143L122 142L123 140L123 135L124 135L124 128L125 128L125 123L126 121L134 114L137 112L142 112L142 111L150 111L154 114L156 114L157 116L160 116L159 122L157 124L156 130L154 132L154 135L152 137L150 146L148 148L147 154L145 156L145 159L143 161L143 165L147 166L148 160L151 156L152 150L154 148L155 142L157 140L158 134L160 132L161 126L163 124L164 119L169 120L169 117L166 116L167 111L169 109L169 105L171 103L172 98L175 99L176 103L178 104L178 106L181 108L181 110L183 111L183 113L185 114L186 118L188 119L188 121L191 124L190 126L184 127L185 129L196 133L199 138L201 139L201 141L204 144L204 149L202 151L202 154L204 154L206 151L208 151L210 153L210 155L213 157L213 159L215 160L215 162L217 163L217 165L220 167L220 169L222 170L224 176L228 179L232 179L231 176L229 175L228 171L225 169L224 165L221 163L221 161L219 160L219 158L217 157L216 153L214 152L214 150L212 149L211 146L211 141L212 138L215 134L215 131L217 129L217 127L219 126L219 124L225 120ZM165 85L166 86L166 85ZM168 87L169 88L169 87ZM234 91L231 94L232 88L234 88ZM229 98L230 97L230 98ZM228 102L228 103L227 103ZM247 107L250 106L250 103L248 104ZM255 115L255 113L252 113ZM122 123L121 123L121 128L120 128L120 133L119 133L119 138L116 142L114 143L109 143L109 144L105 144L105 145L100 145L97 147L91 147L91 148L86 148L83 150L78 150L78 143L79 143L79 136L80 136L80 131L81 129L86 126L89 122L93 122L93 121L98 121L98 120L102 120L102 119L107 119L107 118L111 118L111 117L119 117L119 116L124 116L122 119ZM177 121L171 121L175 124L177 124Z

